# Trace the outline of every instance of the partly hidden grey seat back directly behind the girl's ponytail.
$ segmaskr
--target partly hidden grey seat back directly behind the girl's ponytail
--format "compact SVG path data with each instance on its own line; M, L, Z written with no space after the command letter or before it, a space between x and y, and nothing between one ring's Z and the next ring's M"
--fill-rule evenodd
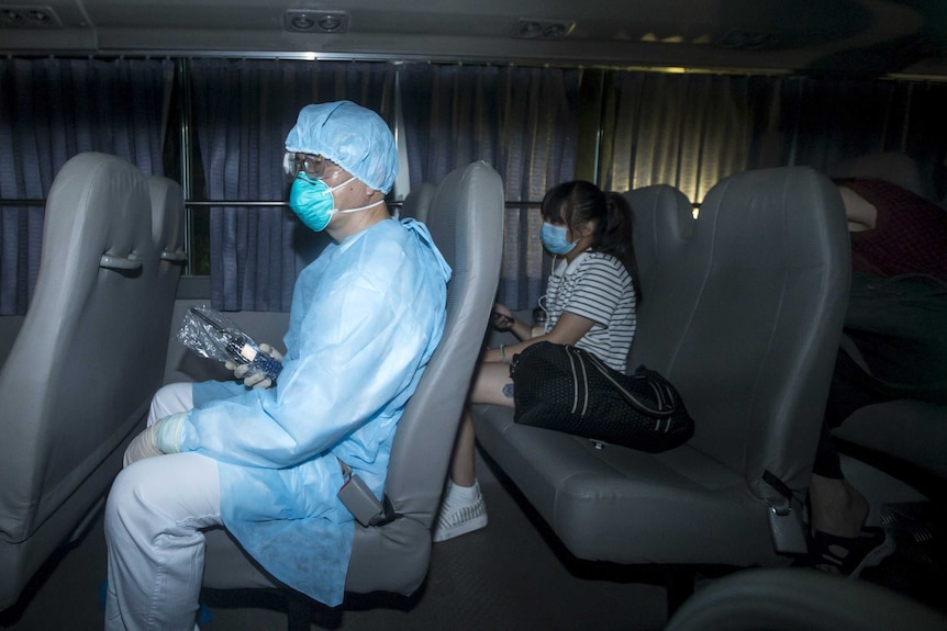
M624 193L634 216L635 260L642 294L647 295L656 263L676 256L693 230L693 206L670 184L651 184Z

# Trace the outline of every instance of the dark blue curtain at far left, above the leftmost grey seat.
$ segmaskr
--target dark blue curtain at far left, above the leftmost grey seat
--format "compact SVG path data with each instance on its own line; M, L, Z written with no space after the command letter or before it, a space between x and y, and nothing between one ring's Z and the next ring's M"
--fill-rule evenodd
M26 313L40 269L43 205L83 151L164 174L174 65L155 59L0 59L0 315Z

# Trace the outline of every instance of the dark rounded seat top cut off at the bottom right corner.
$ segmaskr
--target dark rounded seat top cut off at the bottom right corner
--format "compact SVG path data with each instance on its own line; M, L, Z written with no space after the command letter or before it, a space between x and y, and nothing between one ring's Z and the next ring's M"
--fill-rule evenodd
M947 618L896 591L803 568L746 570L687 600L665 631L937 631Z

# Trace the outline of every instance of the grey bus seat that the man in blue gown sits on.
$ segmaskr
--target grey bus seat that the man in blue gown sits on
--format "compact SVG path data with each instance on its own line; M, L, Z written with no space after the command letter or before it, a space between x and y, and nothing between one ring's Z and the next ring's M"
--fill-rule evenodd
M479 161L448 173L433 196L427 226L454 270L447 288L447 324L394 438L386 495L402 517L379 527L356 525L346 578L350 593L409 595L427 574L431 526L500 279L500 176ZM218 529L207 537L204 585L227 589L274 584ZM303 621L300 628L308 629L309 623Z

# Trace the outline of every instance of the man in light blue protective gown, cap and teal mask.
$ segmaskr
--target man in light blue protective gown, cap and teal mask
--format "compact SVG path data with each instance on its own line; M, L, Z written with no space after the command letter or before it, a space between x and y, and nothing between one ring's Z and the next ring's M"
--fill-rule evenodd
M107 629L194 629L203 531L219 526L279 581L342 602L355 526L341 461L381 496L441 340L450 269L423 224L388 212L385 122L348 101L308 105L286 150L290 206L333 243L296 282L276 383L235 371L245 383L155 395L105 511Z

